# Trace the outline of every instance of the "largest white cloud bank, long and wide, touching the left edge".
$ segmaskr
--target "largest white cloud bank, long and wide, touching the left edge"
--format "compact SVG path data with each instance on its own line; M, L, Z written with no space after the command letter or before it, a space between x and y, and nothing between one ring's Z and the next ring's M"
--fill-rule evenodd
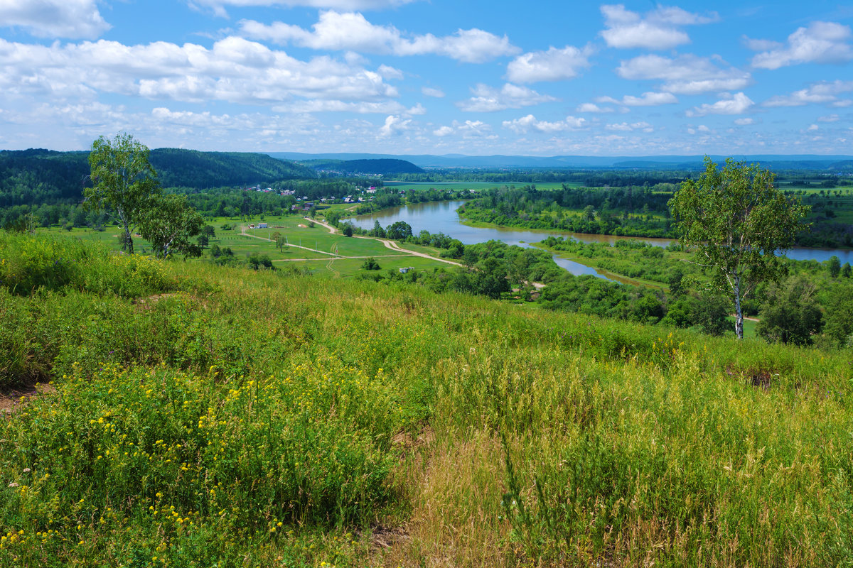
M53 99L98 92L275 106L293 97L375 102L397 96L379 72L329 57L302 61L241 37L193 43L100 40L50 46L0 39L0 89Z

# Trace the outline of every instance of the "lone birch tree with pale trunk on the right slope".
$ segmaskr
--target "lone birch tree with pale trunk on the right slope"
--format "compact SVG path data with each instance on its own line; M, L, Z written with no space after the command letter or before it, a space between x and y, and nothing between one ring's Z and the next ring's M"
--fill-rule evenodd
M775 175L732 158L722 169L705 157L698 181L686 180L670 199L679 241L707 268L712 287L734 301L734 330L743 339L743 301L758 283L786 273L779 254L790 249L809 208L775 186Z

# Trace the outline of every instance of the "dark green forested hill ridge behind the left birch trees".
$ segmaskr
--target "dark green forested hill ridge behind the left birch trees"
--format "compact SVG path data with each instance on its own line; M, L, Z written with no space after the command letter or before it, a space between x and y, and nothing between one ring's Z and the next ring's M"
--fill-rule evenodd
M317 176L303 165L259 153L160 148L151 151L150 160L165 187L204 189ZM88 175L89 152L0 151L0 207L78 201Z

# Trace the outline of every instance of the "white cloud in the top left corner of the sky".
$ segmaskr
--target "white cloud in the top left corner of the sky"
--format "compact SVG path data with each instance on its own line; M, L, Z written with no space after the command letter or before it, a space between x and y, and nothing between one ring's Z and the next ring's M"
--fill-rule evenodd
M98 37L110 25L96 0L3 0L0 26L20 26L38 37Z

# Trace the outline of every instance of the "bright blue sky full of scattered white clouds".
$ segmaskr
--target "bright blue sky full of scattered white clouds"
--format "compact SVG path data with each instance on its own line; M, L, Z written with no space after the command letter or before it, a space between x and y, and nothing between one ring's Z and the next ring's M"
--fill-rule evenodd
M853 3L0 0L0 149L853 154Z

